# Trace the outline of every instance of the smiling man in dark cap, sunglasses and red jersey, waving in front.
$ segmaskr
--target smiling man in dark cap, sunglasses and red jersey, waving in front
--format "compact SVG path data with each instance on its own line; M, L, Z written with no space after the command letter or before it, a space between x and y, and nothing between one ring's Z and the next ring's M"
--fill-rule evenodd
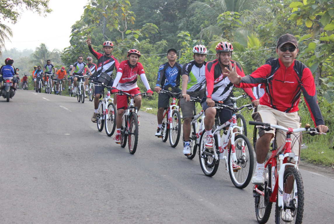
M261 105L258 105L258 110L252 115L255 121L277 124L286 128L300 128L298 103L303 92L314 125L320 133L325 133L328 127L324 125L317 103L314 78L311 70L306 65L295 60L298 51L296 38L287 33L280 36L277 41L276 53L278 59L268 61L251 75L242 78L232 69L230 69L231 72L227 69L225 72L228 73L228 78L237 87L254 87L262 84L261 87L265 89L265 94L260 99ZM231 64L229 66L231 67ZM277 147L285 143L284 134L277 134ZM263 185L265 182L264 162L275 131L259 129L259 135L260 138L256 142L257 167L252 183ZM295 142L292 152L299 157L300 141L295 140L292 140L292 142ZM283 198L289 200L287 193L289 192L285 191ZM285 211L284 216L286 217L282 217L282 219L290 220L291 216L288 213L291 214L289 209Z

